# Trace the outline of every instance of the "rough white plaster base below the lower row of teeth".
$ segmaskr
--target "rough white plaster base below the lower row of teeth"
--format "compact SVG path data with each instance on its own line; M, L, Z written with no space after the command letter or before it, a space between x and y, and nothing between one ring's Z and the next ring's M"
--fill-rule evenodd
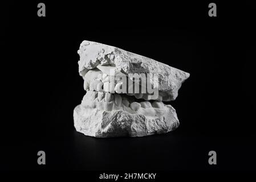
M76 131L91 137L143 137L172 131L180 124L175 110L167 106L166 111L156 117L130 114L123 110L104 111L86 109L78 105L74 110Z

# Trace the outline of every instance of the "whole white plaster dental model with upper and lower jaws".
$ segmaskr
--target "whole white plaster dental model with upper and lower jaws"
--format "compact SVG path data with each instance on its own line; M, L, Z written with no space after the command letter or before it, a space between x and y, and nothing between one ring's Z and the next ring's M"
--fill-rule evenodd
M92 137L143 137L179 125L172 101L189 73L123 49L84 40L78 50L86 95L76 131Z

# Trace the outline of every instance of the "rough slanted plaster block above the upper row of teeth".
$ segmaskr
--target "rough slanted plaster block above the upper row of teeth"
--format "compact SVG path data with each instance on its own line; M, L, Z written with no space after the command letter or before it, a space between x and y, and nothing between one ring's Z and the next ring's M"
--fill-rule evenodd
M159 91L168 94L169 101L175 100L182 82L189 77L189 73L148 57L87 40L80 44L78 54L80 56L78 64L81 76L98 65L113 65L126 75L128 73L158 73Z

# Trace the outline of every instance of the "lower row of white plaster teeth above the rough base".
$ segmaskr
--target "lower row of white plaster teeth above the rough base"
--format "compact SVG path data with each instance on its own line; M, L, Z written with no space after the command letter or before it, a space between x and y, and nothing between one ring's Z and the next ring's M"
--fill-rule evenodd
M111 94L103 92L94 92L88 90L82 101L83 106L100 107L103 110L111 111L116 109L130 108L133 111L138 111L140 108L150 109L152 107L157 109L164 109L164 104L159 101L149 102L130 102L126 97L121 97L120 94Z

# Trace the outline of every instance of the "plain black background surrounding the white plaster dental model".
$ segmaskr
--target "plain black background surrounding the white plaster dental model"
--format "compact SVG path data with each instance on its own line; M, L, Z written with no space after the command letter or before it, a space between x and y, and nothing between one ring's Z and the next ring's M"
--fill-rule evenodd
M3 28L1 169L88 171L255 170L255 7L203 3L10 3ZM176 101L177 130L143 138L77 133L85 94L83 40L119 47L189 72ZM46 152L46 165L37 152ZM217 152L217 165L208 152Z

